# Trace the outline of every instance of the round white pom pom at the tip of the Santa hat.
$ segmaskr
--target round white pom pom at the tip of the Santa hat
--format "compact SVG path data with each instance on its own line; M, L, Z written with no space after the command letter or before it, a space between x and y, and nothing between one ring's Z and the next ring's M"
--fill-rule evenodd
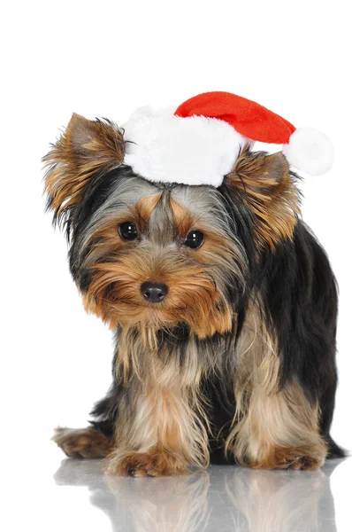
M333 167L333 144L317 129L295 129L282 151L292 166L311 176L325 174Z

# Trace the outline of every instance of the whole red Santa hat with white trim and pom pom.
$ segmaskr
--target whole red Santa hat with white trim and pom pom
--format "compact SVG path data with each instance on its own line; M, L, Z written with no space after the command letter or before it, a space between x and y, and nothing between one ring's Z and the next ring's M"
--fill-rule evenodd
M288 162L311 175L333 166L333 145L315 129L229 92L204 92L179 107L137 109L124 124L124 162L155 182L218 187L244 145L283 145Z

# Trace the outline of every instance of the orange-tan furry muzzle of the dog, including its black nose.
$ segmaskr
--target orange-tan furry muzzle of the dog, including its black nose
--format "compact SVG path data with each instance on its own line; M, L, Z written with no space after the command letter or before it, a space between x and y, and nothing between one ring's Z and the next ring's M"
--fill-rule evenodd
M148 271L134 271L130 264L102 263L92 270L85 307L113 330L135 326L156 331L187 325L205 338L232 329L233 309L210 268L159 266L150 276Z

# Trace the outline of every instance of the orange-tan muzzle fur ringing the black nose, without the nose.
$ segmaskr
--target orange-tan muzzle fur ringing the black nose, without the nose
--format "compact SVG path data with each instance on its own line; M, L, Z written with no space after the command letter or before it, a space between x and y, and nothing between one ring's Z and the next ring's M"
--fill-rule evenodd
M94 266L93 282L84 295L85 307L102 317L111 328L117 325L143 325L152 333L184 321L199 338L231 329L232 311L207 275L206 266L178 264L172 256L158 260L149 250L119 257L117 262ZM157 308L143 301L141 285L149 278L170 287L168 297ZM116 283L106 294L107 286Z

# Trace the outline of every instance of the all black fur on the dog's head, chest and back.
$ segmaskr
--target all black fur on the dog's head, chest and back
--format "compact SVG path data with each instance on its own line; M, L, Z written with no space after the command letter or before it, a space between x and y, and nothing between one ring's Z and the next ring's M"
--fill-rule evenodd
M295 180L295 177L293 175L292 179ZM82 246L82 241L92 216L103 207L111 193L116 191L117 184L128 183L136 178L139 176L135 176L132 169L125 165L107 173L102 170L90 179L79 205L70 207L69 212L64 214L66 234L71 241L70 270L83 293L90 286L91 271L81 268L90 251L89 246ZM156 189L164 188L172 192L175 186L180 188L180 185L157 184ZM224 462L221 442L226 438L235 411L234 353L246 317L249 297L254 293L260 295L264 319L278 339L281 386L295 379L310 401L318 401L321 412L320 432L328 443L329 458L343 457L344 451L333 442L329 433L337 386L337 286L326 254L311 231L297 219L292 240L283 239L274 250L268 246L261 249L258 255L255 220L242 199L241 192L225 182L217 194L227 216L228 231L241 245L246 269L241 272L245 286L243 290L239 289L236 276L231 272L227 273L226 300L231 302L237 313L233 331L226 335L215 333L206 340L196 340L199 352L208 353L208 356L213 354L215 357L221 350L224 364L221 379L215 372L210 372L202 382L206 401L204 406L208 410L213 433L217 434L210 437L211 461ZM49 199L49 208L51 204L52 199ZM57 215L54 215L54 222L60 222ZM90 246L95 243L94 240L91 241ZM103 261L110 262L110 257L103 257ZM108 286L107 290L110 288ZM170 345L172 355L178 356L182 364L189 334L187 325L180 324L172 331L158 332L158 341L160 345ZM129 407L123 383L115 374L118 346L119 331L116 336L111 388L91 411L94 420L90 423L109 437L114 433L121 404L123 408ZM233 458L229 459L233 461Z

